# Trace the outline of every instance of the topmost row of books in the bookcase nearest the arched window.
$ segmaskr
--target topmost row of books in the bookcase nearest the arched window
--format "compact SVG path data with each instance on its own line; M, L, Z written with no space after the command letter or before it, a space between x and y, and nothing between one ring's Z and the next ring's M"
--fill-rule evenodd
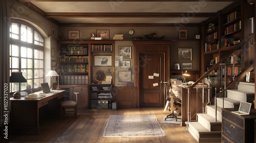
M61 54L88 55L88 47L70 46L69 49L62 48Z

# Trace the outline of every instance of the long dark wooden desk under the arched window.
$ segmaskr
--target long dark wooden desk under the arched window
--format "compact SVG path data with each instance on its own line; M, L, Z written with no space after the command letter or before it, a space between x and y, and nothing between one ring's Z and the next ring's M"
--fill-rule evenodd
M10 98L12 128L37 128L37 133L39 134L39 110L48 104L49 107L57 107L58 110L58 103L53 101L59 102L65 96L65 90L53 91L56 93L46 94L46 97L40 99Z

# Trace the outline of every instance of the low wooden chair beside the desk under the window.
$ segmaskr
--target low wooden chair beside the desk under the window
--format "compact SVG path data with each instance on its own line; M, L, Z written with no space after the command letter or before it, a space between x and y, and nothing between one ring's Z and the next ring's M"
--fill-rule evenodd
M62 119L62 114L65 114L66 112L74 113L77 118L77 94L79 94L79 92L74 92L74 94L76 94L76 101L70 100L59 102L60 119Z

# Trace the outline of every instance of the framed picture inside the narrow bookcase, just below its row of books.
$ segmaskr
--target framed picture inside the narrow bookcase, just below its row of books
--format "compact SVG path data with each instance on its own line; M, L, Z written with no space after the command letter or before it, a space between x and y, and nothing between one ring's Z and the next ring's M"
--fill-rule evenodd
M112 56L107 56L107 55L94 56L94 66L112 66Z

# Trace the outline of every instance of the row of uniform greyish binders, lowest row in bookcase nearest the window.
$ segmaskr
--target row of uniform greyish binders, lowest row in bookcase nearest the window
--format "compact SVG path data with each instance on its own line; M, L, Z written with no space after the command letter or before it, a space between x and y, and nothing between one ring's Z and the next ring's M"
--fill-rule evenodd
M88 76L61 76L59 79L60 85L85 85L88 84Z

